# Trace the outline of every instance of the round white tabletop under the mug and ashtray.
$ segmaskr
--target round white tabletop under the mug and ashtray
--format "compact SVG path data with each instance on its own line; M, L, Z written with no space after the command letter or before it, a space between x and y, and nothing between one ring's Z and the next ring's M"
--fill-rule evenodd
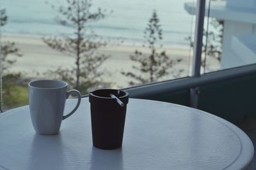
M65 113L75 104L68 99ZM88 98L58 135L35 134L28 106L0 115L0 169L242 169L253 152L252 141L230 122L159 101L129 99L116 150L93 147Z

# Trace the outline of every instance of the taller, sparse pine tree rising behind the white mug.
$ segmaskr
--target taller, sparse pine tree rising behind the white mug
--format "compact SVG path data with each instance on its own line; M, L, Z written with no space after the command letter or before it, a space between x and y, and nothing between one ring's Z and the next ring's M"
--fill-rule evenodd
M72 35L54 36L43 38L44 42L62 53L76 58L75 67L72 69L58 68L51 71L58 78L63 78L70 85L82 92L87 92L90 87L100 83L100 76L104 72L99 71L101 64L109 56L99 53L97 50L106 46L99 36L90 30L90 22L95 22L106 17L106 10L92 11L92 1L89 0L65 0L65 4L52 6L58 12L56 22L74 30Z

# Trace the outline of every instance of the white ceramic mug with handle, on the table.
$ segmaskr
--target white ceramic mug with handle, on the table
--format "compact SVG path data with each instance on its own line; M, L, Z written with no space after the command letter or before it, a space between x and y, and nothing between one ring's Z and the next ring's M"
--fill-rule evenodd
M70 117L81 102L77 90L67 91L67 83L59 80L36 80L28 84L29 110L37 134L58 134L61 121ZM70 94L76 94L78 101L74 110L63 115L65 101Z

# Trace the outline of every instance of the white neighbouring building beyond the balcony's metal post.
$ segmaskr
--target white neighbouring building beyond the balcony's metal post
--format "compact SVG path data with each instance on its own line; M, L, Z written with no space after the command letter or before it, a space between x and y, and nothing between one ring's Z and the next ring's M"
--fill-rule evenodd
M195 15L195 3L185 3L184 8ZM212 1L205 15L208 10L210 17L224 20L221 69L255 64L256 0Z

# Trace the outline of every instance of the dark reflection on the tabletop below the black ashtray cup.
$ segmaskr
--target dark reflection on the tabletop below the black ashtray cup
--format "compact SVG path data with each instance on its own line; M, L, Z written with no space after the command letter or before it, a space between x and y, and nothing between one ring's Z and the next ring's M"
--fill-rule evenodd
M122 148L101 150L92 147L90 169L124 169Z

